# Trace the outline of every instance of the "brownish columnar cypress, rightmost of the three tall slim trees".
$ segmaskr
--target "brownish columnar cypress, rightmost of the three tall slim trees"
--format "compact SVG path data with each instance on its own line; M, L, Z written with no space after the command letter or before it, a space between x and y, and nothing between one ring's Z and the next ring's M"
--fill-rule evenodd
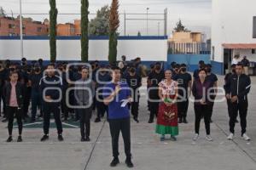
M119 1L113 0L109 15L109 50L108 60L110 64L116 62L119 28Z

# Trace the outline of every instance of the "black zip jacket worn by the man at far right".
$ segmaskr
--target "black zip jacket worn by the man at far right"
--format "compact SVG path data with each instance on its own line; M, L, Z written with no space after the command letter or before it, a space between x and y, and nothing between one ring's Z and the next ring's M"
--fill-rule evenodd
M251 89L251 79L245 74L240 77L233 74L227 80L224 89L226 94L230 94L231 97L237 96L238 102L247 101L247 94Z

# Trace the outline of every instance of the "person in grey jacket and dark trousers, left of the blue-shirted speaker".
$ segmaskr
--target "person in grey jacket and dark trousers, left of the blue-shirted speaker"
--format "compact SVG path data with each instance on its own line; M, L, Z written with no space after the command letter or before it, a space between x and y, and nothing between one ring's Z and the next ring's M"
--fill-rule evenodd
M82 68L81 76L81 79L75 84L74 97L76 104L79 106L77 111L80 116L81 141L84 142L90 141L90 118L95 87L94 82L89 79L89 69L87 67Z

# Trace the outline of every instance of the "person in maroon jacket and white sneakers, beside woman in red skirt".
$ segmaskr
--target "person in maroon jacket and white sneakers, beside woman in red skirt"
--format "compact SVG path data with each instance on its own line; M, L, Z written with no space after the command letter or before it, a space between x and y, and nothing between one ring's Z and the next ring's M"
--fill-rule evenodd
M200 122L201 117L204 117L206 131L207 131L207 137L206 139L208 141L212 141L211 137L211 128L210 128L210 118L211 118L211 109L210 109L210 99L208 99L208 96L210 93L210 88L212 88L212 83L208 82L206 80L207 77L207 71L204 69L201 69L199 71L199 78L195 79L193 82L192 87L192 94L195 97L194 102L194 110L195 110L195 137L194 141L196 141L199 138L199 131L200 131Z

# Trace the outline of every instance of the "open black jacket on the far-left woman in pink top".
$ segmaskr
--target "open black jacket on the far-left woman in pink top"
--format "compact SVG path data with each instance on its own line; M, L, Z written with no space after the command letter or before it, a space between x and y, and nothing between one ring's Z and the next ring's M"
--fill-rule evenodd
M11 83L7 82L3 88L3 94L5 96L5 103L7 106L9 106L11 89L12 89ZM22 108L23 107L23 99L24 99L24 85L21 82L17 82L17 84L16 84L16 97L17 97L18 107Z

